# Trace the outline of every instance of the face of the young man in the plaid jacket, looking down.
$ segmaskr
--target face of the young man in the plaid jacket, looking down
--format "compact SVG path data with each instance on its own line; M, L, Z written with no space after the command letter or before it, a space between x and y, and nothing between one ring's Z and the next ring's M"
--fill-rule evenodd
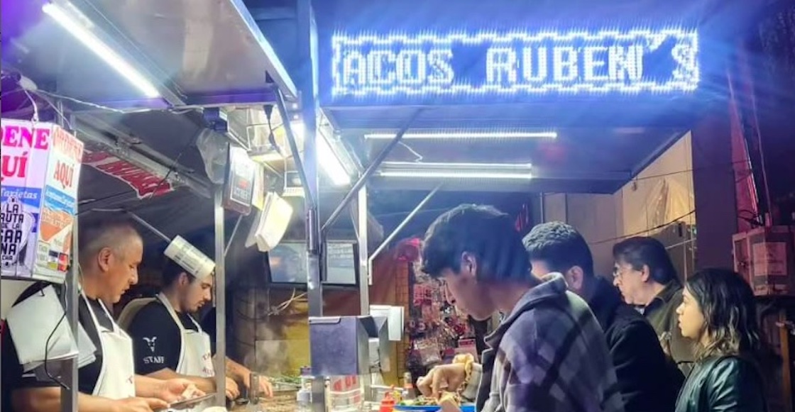
M479 285L477 280L477 261L474 256L464 253L461 259L461 271L451 269L442 271L440 280L445 287L448 302L477 321L491 318L496 308L491 298Z

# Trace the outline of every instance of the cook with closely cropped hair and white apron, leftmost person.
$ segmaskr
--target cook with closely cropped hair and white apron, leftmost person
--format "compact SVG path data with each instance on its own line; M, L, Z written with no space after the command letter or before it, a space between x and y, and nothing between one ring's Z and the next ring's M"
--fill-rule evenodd
M160 380L135 375L130 337L116 325L108 305L119 301L130 286L138 283L138 265L143 241L126 220L99 221L80 229L80 327L95 345L95 360L79 370L78 409L91 411L164 410L169 402L194 391L184 379ZM47 283L36 283L22 293L17 303L41 295ZM60 285L56 292L61 298ZM42 338L45 338L44 333ZM31 344L33 342L30 342ZM49 412L60 410L60 378L56 361L24 372L10 333L2 342L2 410ZM200 393L200 391L196 391Z

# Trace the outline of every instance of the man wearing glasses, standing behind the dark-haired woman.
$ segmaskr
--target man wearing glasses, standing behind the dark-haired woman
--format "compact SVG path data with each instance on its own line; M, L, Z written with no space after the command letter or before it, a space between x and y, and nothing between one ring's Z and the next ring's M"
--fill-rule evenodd
M627 303L642 307L663 349L687 376L693 342L677 324L683 289L665 246L653 237L630 237L613 246L613 258L613 284Z

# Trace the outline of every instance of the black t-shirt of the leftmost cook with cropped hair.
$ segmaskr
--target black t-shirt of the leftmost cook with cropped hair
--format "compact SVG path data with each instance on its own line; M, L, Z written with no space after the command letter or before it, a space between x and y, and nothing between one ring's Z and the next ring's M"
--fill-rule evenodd
M24 292L17 298L17 301L14 302L14 305L17 303L25 300L25 298L29 298L34 294L40 292L42 289L48 286L49 283L35 283L25 289ZM61 288L55 285L56 293L60 298L61 297ZM91 309L94 310L94 314L97 317L97 322L100 325L107 329L113 328L113 321L111 318L107 317L105 310L103 310L103 304L99 302L99 300L92 300L87 299L88 302L91 303ZM63 302L63 298L62 298ZM94 391L94 387L96 386L97 379L99 379L99 371L102 369L102 362L103 362L103 353L101 345L99 345L99 333L95 328L94 321L91 318L91 313L88 311L88 306L86 305L86 300L83 299L82 296L78 298L78 311L79 311L79 319L80 325L83 325L83 329L86 330L88 333L88 337L91 338L91 341L94 343L96 347L95 356L96 360L91 364L87 364L80 368L78 371L78 382L79 388L78 390L84 394L91 394ZM64 318L64 322L66 319ZM25 373L22 372L22 366L19 364L19 357L17 355L17 348L14 346L14 340L11 337L10 330L7 330L2 335L2 410L12 410L10 404L10 395L11 392L16 389L24 389L24 388L31 388L31 387L57 387L58 383L53 381L52 379L48 378L47 372L49 375L52 375L56 379L62 379L59 373L60 364L58 362L48 362L47 364L47 371L45 371L44 365L41 365L36 370L31 372ZM44 378L42 378L44 377Z

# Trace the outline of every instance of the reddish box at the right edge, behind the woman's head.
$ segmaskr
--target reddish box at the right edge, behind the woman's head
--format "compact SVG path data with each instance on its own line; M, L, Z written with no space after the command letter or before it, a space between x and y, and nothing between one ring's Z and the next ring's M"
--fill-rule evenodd
M795 227L751 229L733 237L735 271L754 295L795 295Z

